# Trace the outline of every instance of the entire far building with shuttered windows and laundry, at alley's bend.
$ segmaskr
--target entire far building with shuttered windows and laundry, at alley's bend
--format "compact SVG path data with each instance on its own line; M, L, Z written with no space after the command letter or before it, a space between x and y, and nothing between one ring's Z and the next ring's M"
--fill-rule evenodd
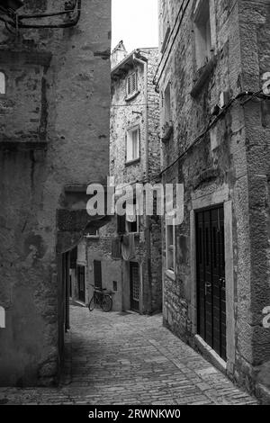
M157 61L157 49L137 49L128 54L122 41L112 51L110 175L115 186L144 184L159 174L159 96L152 84ZM159 217L144 215L133 222L123 218L112 217L100 229L99 237L87 238L88 295L93 293L95 278L101 278L102 287L113 294L112 310L161 310ZM123 259L121 241L128 234L132 234L135 248L130 259ZM118 253L113 252L117 240Z

